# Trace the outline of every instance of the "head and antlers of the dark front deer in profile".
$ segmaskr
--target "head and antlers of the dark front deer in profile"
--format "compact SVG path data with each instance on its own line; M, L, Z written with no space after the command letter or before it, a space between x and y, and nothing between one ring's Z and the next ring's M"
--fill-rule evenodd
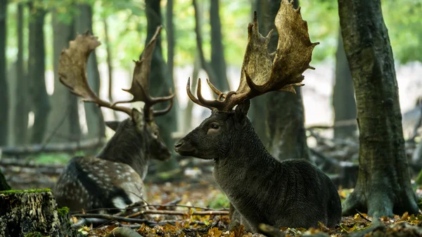
M247 117L250 99L269 91L295 93L294 87L303 85L302 73L308 68L314 69L309 63L314 46L319 43L310 41L307 22L302 20L300 8L295 10L292 5L293 1L281 1L275 20L279 41L274 53L268 52L272 30L266 37L260 34L255 12L253 23L248 25L248 45L236 91L224 94L207 80L207 84L217 94L217 99L207 100L201 94L199 79L196 98L191 93L188 79L188 97L194 103L212 110L212 114L174 145L177 153L218 160L241 149L242 139L260 143Z

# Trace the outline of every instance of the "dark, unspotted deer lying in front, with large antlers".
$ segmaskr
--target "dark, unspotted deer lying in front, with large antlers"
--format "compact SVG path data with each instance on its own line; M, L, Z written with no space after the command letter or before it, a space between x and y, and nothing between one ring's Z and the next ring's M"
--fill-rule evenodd
M215 181L231 203L231 225L243 224L252 232L259 231L260 224L309 228L321 222L331 227L341 219L340 197L331 179L306 160L276 160L247 117L251 98L269 91L294 92L294 86L302 85L302 73L314 69L309 63L319 43L310 41L300 8L292 4L281 1L274 53L267 50L271 32L267 37L258 32L255 12L236 91L224 94L207 80L217 94L210 101L201 95L199 79L196 98L188 79L188 97L212 114L174 145L180 155L215 161Z

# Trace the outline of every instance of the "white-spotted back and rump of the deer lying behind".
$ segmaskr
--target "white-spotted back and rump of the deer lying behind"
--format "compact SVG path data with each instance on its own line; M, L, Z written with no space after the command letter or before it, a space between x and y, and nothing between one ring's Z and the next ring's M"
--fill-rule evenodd
M87 211L124 208L141 201L143 191L141 177L129 165L95 156L78 156L60 174L54 195L60 207Z

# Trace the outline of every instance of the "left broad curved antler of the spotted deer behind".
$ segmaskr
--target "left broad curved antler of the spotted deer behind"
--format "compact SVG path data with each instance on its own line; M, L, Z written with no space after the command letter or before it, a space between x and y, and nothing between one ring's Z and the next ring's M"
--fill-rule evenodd
M60 82L70 89L72 94L83 98L84 102L96 103L98 106L122 111L130 115L132 110L127 107L115 106L108 101L103 101L89 87L87 77L87 63L89 55L100 41L92 36L89 31L77 34L75 40L70 41L69 49L63 49L58 64Z

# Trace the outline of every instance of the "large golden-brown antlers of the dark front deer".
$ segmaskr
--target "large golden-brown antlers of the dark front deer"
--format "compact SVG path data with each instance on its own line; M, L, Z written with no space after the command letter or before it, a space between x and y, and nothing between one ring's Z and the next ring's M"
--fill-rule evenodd
M197 96L191 93L190 79L186 86L189 98L194 103L210 109L231 111L234 106L247 98L254 98L269 91L290 91L295 93L295 86L302 86L305 70L314 69L309 63L312 51L319 42L312 43L309 39L307 22L300 15L300 7L293 8L293 1L282 0L276 15L275 25L279 32L279 42L274 53L268 53L269 38L263 37L258 31L257 13L254 13L253 23L248 25L248 46L241 72L241 81L236 91L223 94L208 80L207 84L217 94L217 100L209 101L203 98L198 81ZM271 58L274 58L271 60Z

